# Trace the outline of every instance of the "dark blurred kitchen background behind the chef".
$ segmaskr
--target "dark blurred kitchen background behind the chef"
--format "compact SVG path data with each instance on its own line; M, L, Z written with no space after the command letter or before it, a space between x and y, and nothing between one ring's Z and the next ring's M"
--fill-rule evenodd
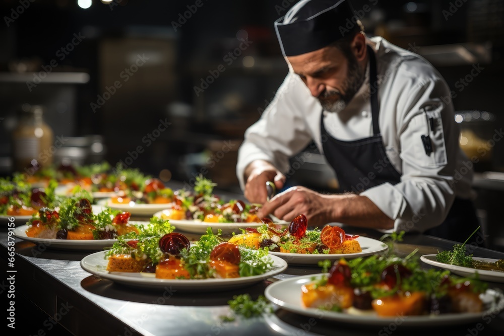
M236 152L287 74L273 22L294 3L0 0L0 174L14 170L19 115L40 105L61 140L53 164L122 162L164 181L203 173L241 192ZM424 56L453 90L461 146L479 156L488 245L504 246L504 2L352 3L368 36ZM287 185L338 191L324 159L306 151Z

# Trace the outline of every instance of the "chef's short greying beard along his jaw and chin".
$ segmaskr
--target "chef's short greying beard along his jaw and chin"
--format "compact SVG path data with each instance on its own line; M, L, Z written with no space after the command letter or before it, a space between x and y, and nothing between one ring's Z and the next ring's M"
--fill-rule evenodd
M359 64L352 54L351 57L348 58L348 76L345 80L346 93L341 94L339 91L324 91L318 97L324 110L329 112L339 112L343 110L359 91L364 82L364 78L365 73L359 69ZM330 97L336 95L340 96L338 100L330 99Z

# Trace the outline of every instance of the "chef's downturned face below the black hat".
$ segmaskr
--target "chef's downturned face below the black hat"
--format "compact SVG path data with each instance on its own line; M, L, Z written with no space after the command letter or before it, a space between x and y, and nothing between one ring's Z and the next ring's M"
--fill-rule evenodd
M352 100L364 81L364 68L353 52L328 46L287 57L313 97L325 110L338 112Z

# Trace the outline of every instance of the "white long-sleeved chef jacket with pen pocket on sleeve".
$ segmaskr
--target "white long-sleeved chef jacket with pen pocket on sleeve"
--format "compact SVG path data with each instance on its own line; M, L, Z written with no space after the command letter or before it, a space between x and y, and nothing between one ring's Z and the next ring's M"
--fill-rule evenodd
M395 231L423 232L444 221L455 197L473 196L472 162L459 146L450 89L433 66L381 37L367 43L376 53L383 143L401 181L371 187L360 195L394 220ZM352 141L373 135L367 68L364 84L347 107L337 113L324 111L326 130L336 139ZM318 99L291 70L261 118L245 131L236 166L242 190L244 169L254 160L269 161L286 173L289 158L311 140L323 153L322 113ZM428 118L433 118L433 129ZM433 153L429 156L422 135L430 137ZM380 169L380 164L375 166Z

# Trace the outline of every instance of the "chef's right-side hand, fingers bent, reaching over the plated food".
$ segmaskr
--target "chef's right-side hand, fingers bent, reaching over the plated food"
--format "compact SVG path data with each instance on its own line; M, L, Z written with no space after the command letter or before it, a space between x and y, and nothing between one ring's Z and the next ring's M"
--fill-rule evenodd
M334 218L335 198L305 187L295 186L279 193L265 203L258 212L259 218L273 214L280 220L292 221L304 214L310 225L327 224Z

